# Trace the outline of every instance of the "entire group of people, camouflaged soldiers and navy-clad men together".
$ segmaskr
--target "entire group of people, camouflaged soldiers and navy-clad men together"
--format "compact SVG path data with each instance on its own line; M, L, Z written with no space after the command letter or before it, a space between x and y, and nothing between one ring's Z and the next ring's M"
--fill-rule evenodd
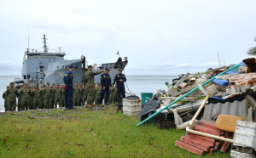
M102 106L104 104L119 103L122 98L125 98L125 75L122 74L122 69L114 76L113 81L116 84L111 84L109 69L105 71L92 71L92 66L88 66L88 71L84 73L83 83L75 82L73 84L73 65L69 65L69 71L66 72L63 82L65 85L60 87L60 84L53 83L49 86L49 82L41 88L39 84L35 87L28 87L24 83L20 90L14 87L14 82L9 84L6 91L3 93L5 111L16 110L16 98L18 98L18 110L34 110L34 109L54 109L66 107L68 110L75 109L73 106L81 106L86 103L86 107L93 107L96 104ZM102 73L104 72L104 73ZM94 76L101 74L101 82L97 85L94 81ZM95 103L95 104L94 104Z

